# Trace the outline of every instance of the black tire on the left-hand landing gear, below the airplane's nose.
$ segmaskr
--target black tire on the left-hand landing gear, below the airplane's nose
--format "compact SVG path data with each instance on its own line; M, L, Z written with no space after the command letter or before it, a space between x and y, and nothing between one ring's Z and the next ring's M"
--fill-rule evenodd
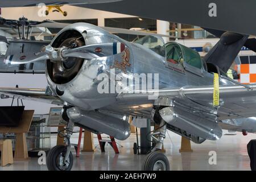
M68 158L69 164L64 164L60 166L59 158L61 157L64 159L66 152L66 146L55 146L49 151L46 158L46 164L49 171L71 171L71 168L73 166L73 155L71 152L69 153Z

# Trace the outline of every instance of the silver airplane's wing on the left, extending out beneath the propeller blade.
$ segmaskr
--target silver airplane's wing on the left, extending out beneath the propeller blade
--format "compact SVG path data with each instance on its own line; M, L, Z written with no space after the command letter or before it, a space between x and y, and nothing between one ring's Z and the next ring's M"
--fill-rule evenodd
M0 88L1 99L19 98L45 102L48 104L63 105L63 101L57 96L49 96L46 89L25 89L25 88Z

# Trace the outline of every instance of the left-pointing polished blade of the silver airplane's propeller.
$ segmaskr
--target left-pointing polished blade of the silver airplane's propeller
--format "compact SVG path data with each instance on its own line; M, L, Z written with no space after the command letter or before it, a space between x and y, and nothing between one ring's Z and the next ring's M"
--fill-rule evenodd
M49 59L49 56L46 53L28 53L28 54L16 54L10 55L3 60L5 64L28 64L34 63L36 61L43 61Z

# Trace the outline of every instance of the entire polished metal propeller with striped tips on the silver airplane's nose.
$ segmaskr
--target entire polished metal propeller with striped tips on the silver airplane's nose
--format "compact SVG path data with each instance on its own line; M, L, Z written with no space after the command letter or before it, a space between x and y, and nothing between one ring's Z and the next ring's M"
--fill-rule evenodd
M4 63L11 65L28 64L48 59L51 61L66 61L68 57L91 60L98 57L117 55L125 51L125 48L126 46L123 43L92 44L76 48L43 46L41 52L38 53L27 53L26 55L23 53L7 56Z

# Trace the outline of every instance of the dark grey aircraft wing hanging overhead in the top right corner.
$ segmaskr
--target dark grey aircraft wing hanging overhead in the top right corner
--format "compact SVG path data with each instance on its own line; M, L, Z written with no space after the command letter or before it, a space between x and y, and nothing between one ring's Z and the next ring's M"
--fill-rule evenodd
M123 0L78 6L256 35L255 0Z

